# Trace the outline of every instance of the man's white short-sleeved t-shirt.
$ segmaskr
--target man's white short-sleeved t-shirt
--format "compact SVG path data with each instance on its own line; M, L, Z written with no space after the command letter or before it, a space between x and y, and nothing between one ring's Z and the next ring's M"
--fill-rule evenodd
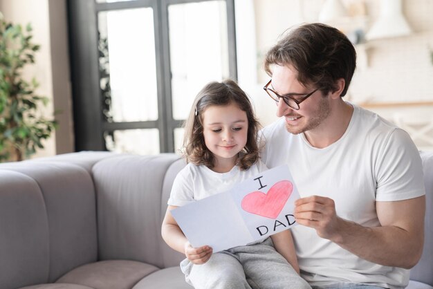
M332 198L338 216L349 221L378 227L376 201L425 194L421 158L408 134L359 106L353 105L344 135L324 149L312 147L304 133L288 133L284 118L263 133L266 166L288 164L301 197ZM311 285L347 281L404 288L408 283L409 270L365 261L309 227L293 227L292 234L302 277Z

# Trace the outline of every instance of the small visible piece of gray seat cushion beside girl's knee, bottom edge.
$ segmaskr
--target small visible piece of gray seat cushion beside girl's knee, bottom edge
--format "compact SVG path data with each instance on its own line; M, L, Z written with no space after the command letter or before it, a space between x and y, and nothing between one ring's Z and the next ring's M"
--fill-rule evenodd
M132 289L191 289L179 266L158 270L143 278Z

